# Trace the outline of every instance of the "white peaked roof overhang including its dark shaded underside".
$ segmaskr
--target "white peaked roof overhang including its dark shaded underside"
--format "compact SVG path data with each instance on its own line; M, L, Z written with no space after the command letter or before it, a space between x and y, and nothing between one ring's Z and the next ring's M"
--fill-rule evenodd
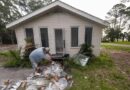
M68 5L68 4L65 4L61 1L55 1L51 4L49 4L49 5L41 8L41 9L38 9L38 10L36 10L36 11L34 11L34 12L32 12L32 13L14 21L14 22L12 22L12 23L7 24L6 28L15 28L16 26L18 26L22 23L25 23L25 22L33 19L33 18L37 18L39 16L42 16L44 14L47 14L47 13L55 11L55 10L67 11L71 14L74 14L74 15L80 16L82 18L85 18L87 20L90 20L92 22L95 22L95 23L97 23L97 24L99 24L103 27L107 26L107 24L108 24L104 20L99 19L95 16L92 16L92 15L90 15L86 12L83 12L81 10L78 10L78 9Z

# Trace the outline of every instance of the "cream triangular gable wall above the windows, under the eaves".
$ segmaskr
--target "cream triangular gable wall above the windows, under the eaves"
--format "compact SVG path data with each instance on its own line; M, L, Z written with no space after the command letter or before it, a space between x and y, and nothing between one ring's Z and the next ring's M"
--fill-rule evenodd
M28 22L20 24L17 27L53 27L53 28L66 28L71 26L98 26L89 20L85 20L79 16L70 14L68 12L50 12L46 15L31 19Z

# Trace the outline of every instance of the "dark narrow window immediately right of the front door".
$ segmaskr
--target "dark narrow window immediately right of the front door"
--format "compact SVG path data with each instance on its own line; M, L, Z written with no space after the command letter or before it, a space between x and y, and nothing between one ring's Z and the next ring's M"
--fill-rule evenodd
M71 46L72 47L78 46L78 27L71 28Z

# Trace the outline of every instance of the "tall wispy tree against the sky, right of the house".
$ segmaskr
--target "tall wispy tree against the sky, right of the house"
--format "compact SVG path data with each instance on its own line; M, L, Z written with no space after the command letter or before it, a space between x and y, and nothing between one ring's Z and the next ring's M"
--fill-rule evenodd
M111 42L114 42L115 39L118 41L118 39L121 37L121 31L124 28L124 9L126 6L122 3L116 4L112 7L112 9L107 13L107 21L110 23L110 26L108 27L106 34L107 37L110 38Z

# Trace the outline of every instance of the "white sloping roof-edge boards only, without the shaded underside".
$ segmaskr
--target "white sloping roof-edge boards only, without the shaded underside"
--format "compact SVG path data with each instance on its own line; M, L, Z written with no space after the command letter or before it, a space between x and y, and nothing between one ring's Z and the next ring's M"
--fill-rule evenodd
M76 9L76 8L70 6L70 5L68 5L68 4L66 4L66 3L64 3L62 1L56 0L56 1L52 2L51 4L49 4L49 5L47 5L47 6L43 7L43 8L40 8L40 9L38 9L38 10L28 14L28 15L25 15L25 16L13 21L13 22L7 24L6 28L7 29L13 28L13 27L21 24L22 22L27 21L27 20L31 19L32 17L35 17L35 16L37 16L37 15L43 13L43 12L48 11L51 8L54 8L54 7L57 7L57 6L59 6L61 8L64 8L66 10L69 10L69 11L71 11L71 12L73 12L73 13L79 15L79 16L85 17L85 18L87 18L87 19L89 19L91 21L94 21L94 22L102 25L102 26L107 26L108 25L108 23L106 21L104 21L104 20L102 20L102 19L100 19L98 17L95 17L95 16L90 15L90 14L84 12L84 11Z

